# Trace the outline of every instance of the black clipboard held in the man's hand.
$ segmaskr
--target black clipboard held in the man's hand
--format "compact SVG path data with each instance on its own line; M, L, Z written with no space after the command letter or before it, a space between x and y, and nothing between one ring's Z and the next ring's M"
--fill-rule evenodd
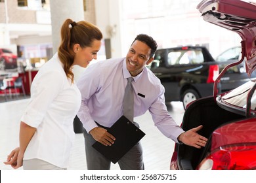
M121 118L108 129L108 132L116 138L114 144L104 146L100 142L95 142L92 146L114 164L146 135L139 127L125 118L125 116L121 116Z

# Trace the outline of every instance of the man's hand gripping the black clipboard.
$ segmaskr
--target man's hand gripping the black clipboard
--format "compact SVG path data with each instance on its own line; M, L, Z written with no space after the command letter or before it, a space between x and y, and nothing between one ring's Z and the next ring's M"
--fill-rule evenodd
M113 135L108 133L108 131L102 127L95 127L89 133L93 136L93 139L102 143L104 146L111 146L116 140Z

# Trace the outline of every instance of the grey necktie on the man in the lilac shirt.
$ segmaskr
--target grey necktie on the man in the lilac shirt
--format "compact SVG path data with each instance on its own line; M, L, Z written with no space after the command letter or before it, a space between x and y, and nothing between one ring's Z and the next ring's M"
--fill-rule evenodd
M131 86L133 77L127 79L128 82L125 88L125 96L123 97L123 115L130 122L133 122L133 86Z

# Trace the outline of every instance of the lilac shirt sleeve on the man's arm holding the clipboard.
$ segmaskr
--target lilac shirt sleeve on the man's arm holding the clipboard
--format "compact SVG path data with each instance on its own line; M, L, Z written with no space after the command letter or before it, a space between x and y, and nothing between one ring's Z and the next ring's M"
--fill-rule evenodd
M98 64L96 63L90 65L85 69L83 75L81 75L77 82L77 88L81 92L81 107L79 108L77 117L88 133L91 129L98 126L91 117L90 108L88 106L89 99L92 95L95 95L100 88L100 68L95 68L97 66Z

